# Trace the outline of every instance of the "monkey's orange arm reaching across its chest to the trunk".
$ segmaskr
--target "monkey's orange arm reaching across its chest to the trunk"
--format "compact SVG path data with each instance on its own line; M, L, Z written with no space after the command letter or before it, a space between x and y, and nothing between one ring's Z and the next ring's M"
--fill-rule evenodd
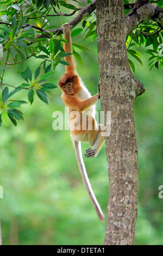
M79 112L85 111L87 108L90 108L92 105L95 105L98 99L98 94L86 100L80 100L78 97L72 95L62 96L62 100L65 102L66 106L72 107L73 109Z

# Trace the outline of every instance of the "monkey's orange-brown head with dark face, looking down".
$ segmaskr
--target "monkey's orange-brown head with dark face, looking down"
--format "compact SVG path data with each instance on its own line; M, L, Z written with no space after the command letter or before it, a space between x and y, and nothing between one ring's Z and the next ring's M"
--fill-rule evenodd
M76 94L78 90L78 76L74 74L64 74L59 80L60 88L67 94Z

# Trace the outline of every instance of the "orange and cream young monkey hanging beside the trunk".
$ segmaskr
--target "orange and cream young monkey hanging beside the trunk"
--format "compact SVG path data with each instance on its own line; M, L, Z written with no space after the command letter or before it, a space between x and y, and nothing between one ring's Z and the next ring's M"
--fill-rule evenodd
M67 44L64 43L65 53L72 53L71 29L69 23L65 23L62 29L64 31L64 38L67 40ZM91 96L84 86L82 80L77 75L76 65L72 55L66 56L65 60L70 66L66 66L66 74L62 75L59 80L59 86L63 90L61 98L65 102L65 105L69 107L70 123L74 121L76 124L73 129L70 125L70 131L84 185L99 220L104 222L105 217L93 193L86 173L80 144L80 142L89 142L92 149L89 148L86 150L85 157L96 157L104 142L104 136L101 136L103 125L97 125L95 120L95 104L99 99L99 94ZM89 127L91 127L91 129L89 129Z

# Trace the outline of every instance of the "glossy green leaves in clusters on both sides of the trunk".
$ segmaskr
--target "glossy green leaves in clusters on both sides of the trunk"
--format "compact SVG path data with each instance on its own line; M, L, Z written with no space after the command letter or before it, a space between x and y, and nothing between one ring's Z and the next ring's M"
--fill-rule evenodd
M92 1L87 0L87 4ZM125 0L125 4L129 1ZM163 6L162 0L156 5ZM0 75L1 99L0 99L0 125L9 125L9 120L17 125L16 120L23 120L23 114L17 108L24 101L15 101L12 96L17 95L20 90L27 91L28 101L32 105L35 95L45 103L48 103L48 96L52 95L51 89L56 88L54 84L48 82L48 78L53 76L58 65L69 65L64 57L72 53L65 53L62 36L57 30L57 23L51 23L54 16L72 15L81 9L80 1L59 0L5 0L0 5L0 65L2 74ZM67 14L64 14L66 10ZM130 10L124 9L127 14ZM70 13L72 12L72 13ZM55 18L56 19L56 18ZM64 23L64 22L62 22ZM51 31L51 29L54 29ZM80 27L72 29L72 37L84 34L84 40L93 41L96 39L96 13L86 16ZM138 47L144 45L149 55L150 70L155 67L163 67L162 60L162 26L159 23L148 21L143 22L127 37L127 52L129 64L135 72L135 62L143 65ZM83 45L73 44L73 56L83 65L80 50L89 50ZM24 71L18 71L26 83L15 87L9 92L13 84L5 84L4 75L8 65L15 65L26 62L29 58L40 60L40 65L36 67L33 74L29 67ZM41 72L44 74L39 78ZM15 112L13 112L13 109ZM21 118L20 118L21 117Z

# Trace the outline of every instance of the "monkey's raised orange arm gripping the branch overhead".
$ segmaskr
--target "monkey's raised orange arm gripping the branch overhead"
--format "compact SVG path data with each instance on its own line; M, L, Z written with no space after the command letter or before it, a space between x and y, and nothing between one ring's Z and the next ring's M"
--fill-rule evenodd
M64 38L67 40L67 44L64 42L65 53L72 53L70 24L65 23L64 25L62 25L62 29L64 31ZM70 64L70 66L66 66L66 73L76 74L76 63L74 62L72 54L66 56L65 60Z

